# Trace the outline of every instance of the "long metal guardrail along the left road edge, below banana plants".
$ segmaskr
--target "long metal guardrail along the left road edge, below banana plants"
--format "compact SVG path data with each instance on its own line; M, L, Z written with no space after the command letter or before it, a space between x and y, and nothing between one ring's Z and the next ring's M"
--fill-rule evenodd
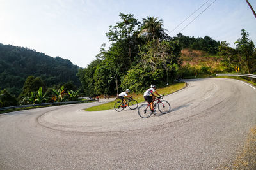
M47 106L47 105L58 105L58 104L74 104L74 103L86 103L88 101L95 101L95 99L88 99L84 101L66 101L66 102L54 102L54 103L42 103L42 104L29 104L29 105L19 105L19 106L9 106L0 108L1 110L15 109L15 108L28 108L35 106Z

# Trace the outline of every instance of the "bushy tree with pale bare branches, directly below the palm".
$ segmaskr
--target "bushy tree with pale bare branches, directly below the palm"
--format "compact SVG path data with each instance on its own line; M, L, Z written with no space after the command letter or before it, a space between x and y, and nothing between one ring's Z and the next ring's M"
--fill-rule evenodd
M154 45L155 41L149 41L141 47L140 63L132 67L122 80L124 89L141 92L152 83L163 87L175 80L181 64L179 42L162 41Z

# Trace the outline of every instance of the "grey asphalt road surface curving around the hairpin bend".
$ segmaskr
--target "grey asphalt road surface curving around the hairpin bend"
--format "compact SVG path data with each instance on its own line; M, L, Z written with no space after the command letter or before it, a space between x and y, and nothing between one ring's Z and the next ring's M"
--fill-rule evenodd
M230 164L256 125L255 87L223 78L186 82L188 87L164 97L170 113L146 119L129 108L82 110L99 103L2 114L0 169L219 169Z

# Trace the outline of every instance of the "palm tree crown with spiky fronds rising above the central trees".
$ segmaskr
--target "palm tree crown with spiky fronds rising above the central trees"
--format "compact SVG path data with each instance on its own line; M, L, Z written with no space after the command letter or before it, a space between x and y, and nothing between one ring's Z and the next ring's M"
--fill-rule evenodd
M142 30L138 36L147 36L148 39L153 41L156 39L159 44L159 39L163 38L164 35L163 20L154 17L147 16L143 18Z

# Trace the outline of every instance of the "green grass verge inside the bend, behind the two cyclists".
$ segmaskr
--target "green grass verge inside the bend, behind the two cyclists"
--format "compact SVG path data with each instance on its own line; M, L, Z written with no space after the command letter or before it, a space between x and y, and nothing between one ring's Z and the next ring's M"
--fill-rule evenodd
M182 88L186 87L186 83L176 83L173 85L169 85L167 87L163 87L163 88L159 88L157 89L157 92L159 94L172 94L173 92L176 92ZM132 94L133 98L138 101L138 103L141 103L144 101L144 97L143 94ZM93 106L90 108L86 108L86 111L100 111L100 110L109 110L109 109L113 109L114 108L114 104L116 103L116 101L118 101L119 99L116 99L115 101L111 101L109 103L104 103L104 104L100 104L98 106Z

